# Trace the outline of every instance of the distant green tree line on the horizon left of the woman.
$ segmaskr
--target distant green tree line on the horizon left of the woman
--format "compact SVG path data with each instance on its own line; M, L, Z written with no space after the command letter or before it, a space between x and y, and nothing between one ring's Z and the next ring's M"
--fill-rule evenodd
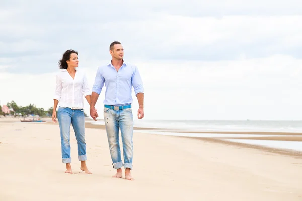
M40 117L46 117L46 116L52 116L53 107L50 107L48 110L45 110L44 108L37 108L34 104L29 104L28 106L18 106L16 102L11 101L8 102L7 107L12 108L14 111L11 111L11 115L19 116L19 113L22 115L22 117L27 115L39 115ZM56 111L58 112L58 111ZM1 110L0 106L0 115L6 115ZM84 113L85 117L87 115Z

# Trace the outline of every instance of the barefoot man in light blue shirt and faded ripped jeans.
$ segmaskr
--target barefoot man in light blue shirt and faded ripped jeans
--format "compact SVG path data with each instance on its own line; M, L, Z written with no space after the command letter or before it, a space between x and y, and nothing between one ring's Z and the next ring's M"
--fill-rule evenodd
M104 121L107 132L110 155L113 168L116 169L115 178L122 178L122 166L125 168L125 178L134 180L131 176L133 159L133 115L132 115L132 86L138 100L138 119L144 117L143 99L144 90L141 77L136 66L124 62L124 48L120 42L110 44L112 60L105 66L98 68L95 83L92 88L90 115L96 120L98 113L95 104L106 86L104 100ZM119 145L119 129L124 152L124 164L122 163Z

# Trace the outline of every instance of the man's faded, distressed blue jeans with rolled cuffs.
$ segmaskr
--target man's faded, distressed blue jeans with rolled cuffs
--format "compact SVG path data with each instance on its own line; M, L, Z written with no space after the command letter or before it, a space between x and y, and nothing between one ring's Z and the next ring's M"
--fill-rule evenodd
M106 126L112 166L114 169L124 168L132 169L133 159L133 115L132 109L113 110L104 108L104 121ZM123 143L124 164L121 158L121 149L119 145L119 129Z

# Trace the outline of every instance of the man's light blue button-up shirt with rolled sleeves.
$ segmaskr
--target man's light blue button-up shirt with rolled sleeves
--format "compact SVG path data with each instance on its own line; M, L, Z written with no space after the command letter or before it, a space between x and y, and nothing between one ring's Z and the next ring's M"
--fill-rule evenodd
M92 92L100 95L105 84L105 105L123 106L132 104L132 86L135 92L143 93L143 83L136 66L123 63L118 71L111 64L98 68Z

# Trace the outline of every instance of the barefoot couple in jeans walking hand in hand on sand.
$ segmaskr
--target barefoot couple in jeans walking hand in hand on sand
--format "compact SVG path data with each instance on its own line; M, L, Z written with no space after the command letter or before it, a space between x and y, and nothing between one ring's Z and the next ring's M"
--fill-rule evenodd
M60 72L56 75L56 88L52 120L59 122L61 135L62 162L66 164L66 173L72 173L70 157L70 126L72 125L78 144L80 169L91 174L86 166L84 98L90 105L90 116L96 121L99 116L95 105L105 84L104 121L107 132L112 166L116 169L113 177L122 178L122 167L125 179L134 180L131 176L133 159L133 114L132 86L138 100L138 119L144 117L143 83L136 66L124 62L124 49L120 42L110 44L112 59L107 65L98 68L95 82L90 90L86 74L77 69L78 52L67 50L59 61ZM56 114L56 108L58 114ZM123 144L124 163L121 158L119 130Z

